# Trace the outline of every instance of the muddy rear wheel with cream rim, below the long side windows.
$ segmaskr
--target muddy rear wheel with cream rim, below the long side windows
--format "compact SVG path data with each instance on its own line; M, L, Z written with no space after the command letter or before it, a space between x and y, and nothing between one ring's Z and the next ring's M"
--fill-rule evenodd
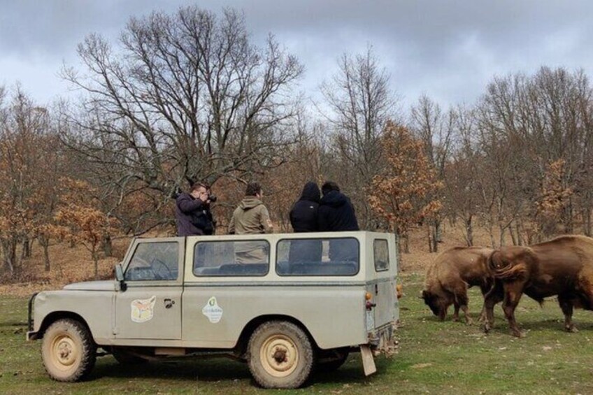
M308 336L292 322L265 322L249 340L249 369L264 388L300 387L313 370L313 361Z

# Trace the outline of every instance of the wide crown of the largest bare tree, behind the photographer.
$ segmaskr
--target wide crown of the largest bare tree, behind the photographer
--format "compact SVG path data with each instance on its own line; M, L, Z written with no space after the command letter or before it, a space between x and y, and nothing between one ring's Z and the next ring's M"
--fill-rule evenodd
M66 117L70 145L129 190L167 196L179 185L248 177L292 142L291 90L303 67L269 36L249 40L243 15L197 7L132 18L112 48L92 34L86 66L64 78L87 94L84 117Z

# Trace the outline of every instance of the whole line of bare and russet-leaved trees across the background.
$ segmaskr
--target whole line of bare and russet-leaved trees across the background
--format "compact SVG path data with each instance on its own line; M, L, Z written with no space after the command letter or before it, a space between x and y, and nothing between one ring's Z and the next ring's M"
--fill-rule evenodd
M411 229L438 250L443 224L492 246L592 234L593 96L583 71L494 76L475 103L422 96L401 109L373 48L337 59L311 106L304 67L270 35L255 45L236 10L131 18L117 41L90 34L62 77L76 101L42 107L0 88L1 272L20 275L36 240L87 247L174 229L178 188L208 182L224 229L258 180L280 231L308 180L334 180L362 229Z

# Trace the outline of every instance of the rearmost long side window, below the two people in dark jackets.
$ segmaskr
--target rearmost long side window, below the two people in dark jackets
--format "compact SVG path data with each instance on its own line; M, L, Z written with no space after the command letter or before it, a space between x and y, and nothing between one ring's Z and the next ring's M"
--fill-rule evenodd
M359 271L355 238L280 240L276 248L278 275L355 275Z

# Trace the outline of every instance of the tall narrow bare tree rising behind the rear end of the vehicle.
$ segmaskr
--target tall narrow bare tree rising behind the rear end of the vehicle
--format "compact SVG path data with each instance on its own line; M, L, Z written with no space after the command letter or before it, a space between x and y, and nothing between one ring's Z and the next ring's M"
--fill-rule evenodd
M387 120L396 117L396 99L389 73L370 46L364 55L343 55L338 68L334 78L321 85L321 92L331 111L327 117L334 127L339 159L347 168L346 189L364 210L362 227L368 229L373 213L367 193L381 164L380 136Z

